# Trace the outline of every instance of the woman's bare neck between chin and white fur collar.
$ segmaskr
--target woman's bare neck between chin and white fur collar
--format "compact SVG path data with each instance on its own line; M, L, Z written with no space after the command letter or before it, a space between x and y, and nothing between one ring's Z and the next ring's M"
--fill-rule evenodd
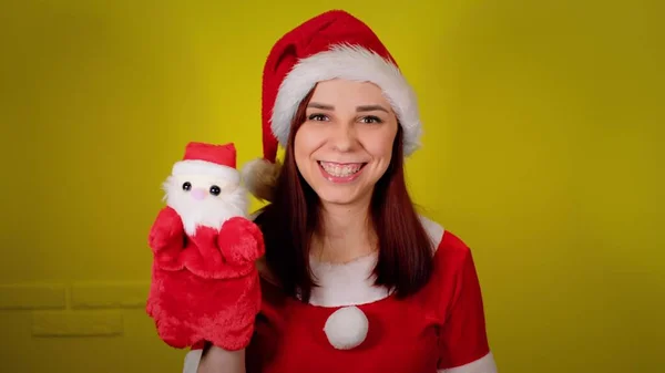
M377 238L369 203L321 205L321 225L314 235L311 255L318 261L345 263L375 251Z

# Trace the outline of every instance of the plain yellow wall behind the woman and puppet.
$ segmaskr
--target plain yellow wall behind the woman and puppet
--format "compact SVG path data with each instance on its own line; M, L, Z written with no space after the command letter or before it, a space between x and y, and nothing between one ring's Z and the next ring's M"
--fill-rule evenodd
M657 1L14 2L0 371L180 371L143 311L160 183L187 141L259 155L264 59L328 7L418 91L411 187L474 249L501 372L665 371Z

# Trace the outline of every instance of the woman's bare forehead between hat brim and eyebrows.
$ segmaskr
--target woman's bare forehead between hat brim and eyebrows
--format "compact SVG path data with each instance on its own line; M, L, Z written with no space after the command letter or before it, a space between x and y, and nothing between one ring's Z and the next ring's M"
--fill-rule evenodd
M339 106L358 105L390 105L381 89L370 82L355 82L342 79L335 79L319 82L311 95L311 102L326 103Z

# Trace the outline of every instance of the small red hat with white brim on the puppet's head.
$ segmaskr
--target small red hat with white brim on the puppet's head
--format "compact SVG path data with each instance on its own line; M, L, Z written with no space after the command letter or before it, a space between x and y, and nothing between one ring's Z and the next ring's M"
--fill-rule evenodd
M173 165L172 175L209 175L237 184L241 174L236 169L235 145L188 143L183 159Z

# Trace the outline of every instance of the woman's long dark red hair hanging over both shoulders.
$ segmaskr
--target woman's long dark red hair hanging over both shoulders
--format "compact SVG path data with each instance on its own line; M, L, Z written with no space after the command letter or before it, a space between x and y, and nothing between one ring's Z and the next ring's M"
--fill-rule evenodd
M294 138L306 120L314 90L303 100L291 123L284 164L274 197L256 218L264 234L266 265L284 291L307 302L316 286L309 266L311 238L320 222L320 200L300 175L294 157ZM393 290L398 298L422 288L432 268L432 242L420 222L403 173L402 129L398 124L390 165L377 182L370 219L378 237L376 284Z

